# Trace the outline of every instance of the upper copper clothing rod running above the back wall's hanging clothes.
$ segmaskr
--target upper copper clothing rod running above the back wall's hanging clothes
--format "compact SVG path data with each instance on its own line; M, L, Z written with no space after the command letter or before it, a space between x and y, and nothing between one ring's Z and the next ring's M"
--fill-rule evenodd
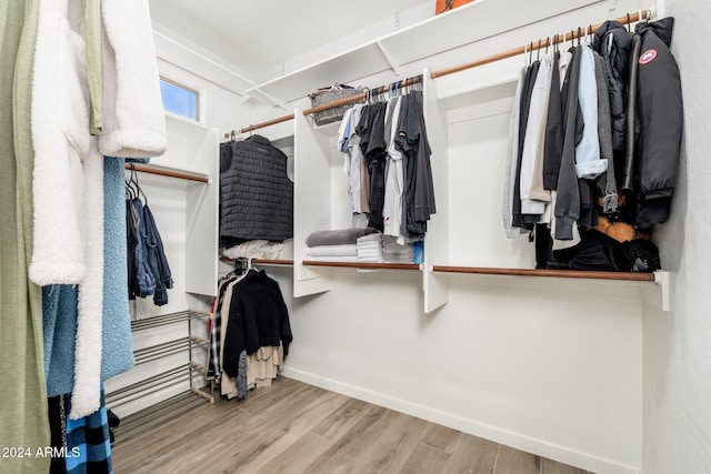
M624 17L620 17L620 18L615 18L613 19L613 21L618 21L622 24L630 24L630 23L634 23L637 21L641 21L641 20L648 20L651 17L651 12L650 10L643 10L641 12L634 12L634 13L628 13ZM562 34L554 34L553 37L550 38L544 38L544 39L539 39L537 41L531 41L529 44L527 46L522 46L522 47L518 47L518 48L513 48L507 51L502 51L499 52L497 54L492 54L489 56L487 58L480 59L478 61L473 61L473 62L468 62L464 64L460 64L460 65L455 65L453 68L448 68L448 69L440 69L439 71L432 71L431 73L431 78L432 79L438 79L438 78L442 78L444 75L449 75L449 74L453 74L455 72L461 72L461 71L465 71L468 69L472 69L472 68L478 68L480 65L484 65L484 64L489 64L491 62L497 62L500 61L502 59L508 59L508 58L513 58L523 53L528 53L530 51L535 51L539 49L543 49L547 47L551 47L554 44L559 44L559 43L563 43L565 41L573 41L578 38L582 38L584 36L588 34L594 34L600 27L602 26L602 23L597 23L597 24L590 24L588 27L584 28L577 28L574 30L570 30L567 33L562 33ZM414 81L413 81L414 80ZM409 82L408 81L413 81L413 82ZM413 84L413 83L418 83L422 81L422 75L415 75L414 78L409 78L405 79L404 81L401 81L401 85L400 87L405 87L409 84ZM382 85L373 91L371 91L371 93L384 93L388 92L389 90L389 85ZM333 102L329 102L329 103L324 103L311 109L306 109L302 113L304 115L310 115L312 113L317 113L317 112L321 112L324 110L329 110L329 109L333 109L340 105L344 105L348 103L353 103L353 102L358 102L359 100L365 99L367 93L360 93L357 95L351 95L351 97L347 97L343 99L339 99L337 101ZM253 125L249 125L243 129L241 129L239 132L240 133L247 133L247 132L251 132L252 130L257 130L257 129L261 129L264 127L269 127L269 125L273 125L276 123L281 123L281 122L286 122L288 120L292 120L293 119L293 113L290 113L289 115L283 115L280 117L278 119L273 119L273 120L269 120L267 122L262 122L262 123L257 123ZM234 132L230 132L230 133L224 133L224 138L230 138Z

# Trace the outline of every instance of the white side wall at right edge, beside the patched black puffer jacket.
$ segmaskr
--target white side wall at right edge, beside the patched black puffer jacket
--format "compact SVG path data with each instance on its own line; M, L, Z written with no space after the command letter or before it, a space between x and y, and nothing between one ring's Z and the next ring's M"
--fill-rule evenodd
M682 172L675 211L659 233L662 258L672 270L672 311L644 307L644 473L708 473L711 470L711 121L701 54L711 26L703 0L667 0L675 18L672 52L684 97ZM701 47L701 48L700 48Z

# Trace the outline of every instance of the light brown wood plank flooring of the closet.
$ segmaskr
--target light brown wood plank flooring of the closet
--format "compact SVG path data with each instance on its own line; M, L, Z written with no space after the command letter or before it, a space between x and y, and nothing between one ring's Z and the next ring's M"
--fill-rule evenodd
M589 474L286 377L241 402L187 394L114 434L117 474Z

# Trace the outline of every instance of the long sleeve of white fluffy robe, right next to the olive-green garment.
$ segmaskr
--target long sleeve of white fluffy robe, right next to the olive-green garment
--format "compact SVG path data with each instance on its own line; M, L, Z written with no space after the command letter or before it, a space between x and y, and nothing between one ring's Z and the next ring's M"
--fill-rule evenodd
M50 3L50 4L48 4ZM40 1L32 83L34 241L30 279L74 284L86 272L82 161L90 150L83 42L67 0ZM62 13L63 10L63 13ZM87 130L87 131L84 131Z

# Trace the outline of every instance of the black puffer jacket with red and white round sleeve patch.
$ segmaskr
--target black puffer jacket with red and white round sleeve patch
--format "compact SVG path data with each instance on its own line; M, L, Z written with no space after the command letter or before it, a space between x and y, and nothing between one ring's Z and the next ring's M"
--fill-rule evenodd
M637 65L634 192L637 224L649 228L669 218L679 173L683 102L679 65L671 53L673 18L639 23ZM632 93L632 91L630 91Z

